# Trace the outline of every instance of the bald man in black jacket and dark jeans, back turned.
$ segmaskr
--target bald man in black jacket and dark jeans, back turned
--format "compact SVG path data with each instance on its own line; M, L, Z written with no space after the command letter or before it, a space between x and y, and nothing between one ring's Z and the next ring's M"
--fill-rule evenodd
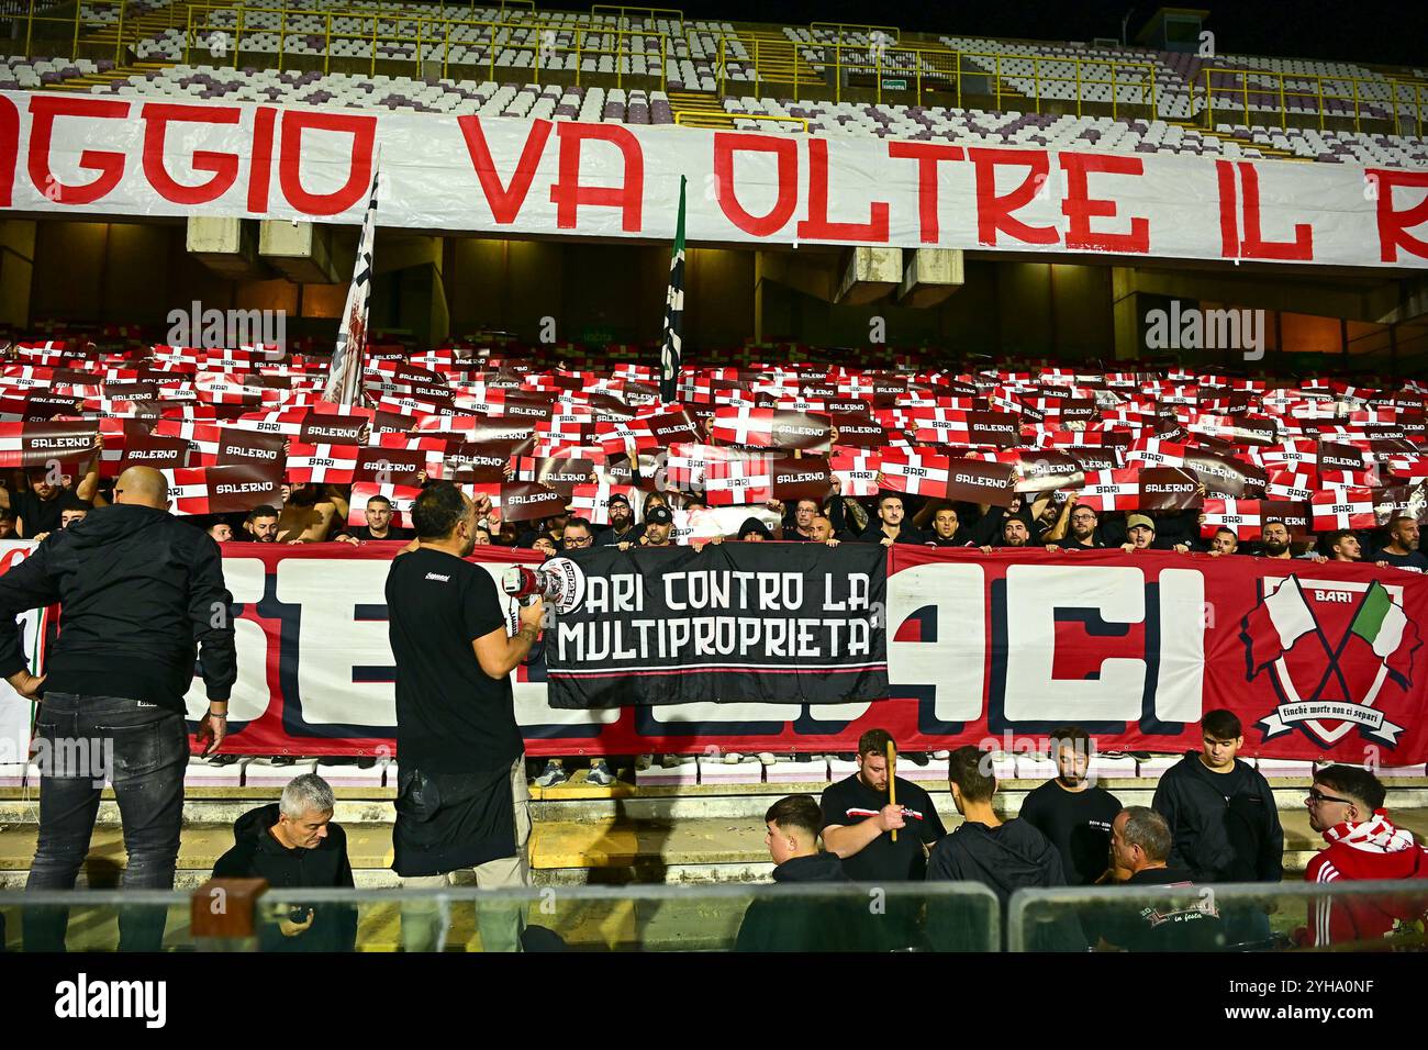
M47 673L34 677L16 617L56 603L61 630ZM40 839L27 889L73 889L106 779L124 826L124 887L173 889L184 696L197 660L208 696L197 737L217 750L237 677L231 604L218 544L169 513L167 481L153 467L126 470L114 506L53 533L0 576L0 676L40 701ZM121 910L120 950L157 951L164 914ZM27 909L26 949L63 950L66 921L63 909Z

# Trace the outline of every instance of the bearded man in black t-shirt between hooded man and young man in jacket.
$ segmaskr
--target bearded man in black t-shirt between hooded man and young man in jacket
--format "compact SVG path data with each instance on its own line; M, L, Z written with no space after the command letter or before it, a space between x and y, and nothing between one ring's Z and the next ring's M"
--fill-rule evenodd
M1120 800L1087 780L1091 736L1080 726L1052 730L1057 776L1021 803L1021 819L1041 831L1061 854L1067 886L1091 886L1111 856L1111 821Z

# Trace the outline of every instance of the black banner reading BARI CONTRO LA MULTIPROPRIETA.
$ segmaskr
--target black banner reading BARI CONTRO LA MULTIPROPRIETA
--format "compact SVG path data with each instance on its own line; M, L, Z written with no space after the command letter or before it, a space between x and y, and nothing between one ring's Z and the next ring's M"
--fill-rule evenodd
M888 694L883 547L597 547L570 564L544 643L551 707Z

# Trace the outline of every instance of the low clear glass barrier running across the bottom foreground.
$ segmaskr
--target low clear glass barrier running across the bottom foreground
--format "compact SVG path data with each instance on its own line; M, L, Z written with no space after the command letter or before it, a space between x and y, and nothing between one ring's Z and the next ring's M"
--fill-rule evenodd
M1155 909L1174 921L1175 913L1211 909L1221 920L1204 950L1242 951L1384 951L1422 950L1422 914L1428 911L1428 884L1412 881L1335 881L1279 884L1217 884L1190 887L1097 886L1054 890L1018 890L1002 919L997 897L977 883L904 883L863 886L853 883L705 884L705 886L545 886L521 890L267 890L254 910L254 930L266 927L274 943L278 920L294 910L347 906L357 911L357 950L391 951L403 947L401 916L440 914L447 930L444 950L480 950L483 920L507 921L520 911L527 927L543 927L551 944L574 950L727 951L750 906L787 919L801 911L805 931L837 940L825 950L897 950L910 939L908 926L921 926L920 950L937 951L1084 951L1112 923L1134 920ZM1315 927L1327 929L1332 910L1377 906L1409 919L1391 934L1364 940L1338 940L1315 946ZM23 947L26 913L69 909L70 950L107 951L117 947L116 919L144 911L166 911L166 950L260 950L258 937L207 936L204 910L226 907L211 887L184 891L70 890L0 891L0 947ZM1262 920L1247 923L1258 913ZM1417 916L1417 917L1414 917ZM797 926L797 924L795 924ZM783 929L788 929L784 926ZM1121 926L1124 929L1124 926ZM1297 930L1307 940L1295 940ZM1335 927L1338 929L1338 927ZM555 941L554 934L560 940ZM767 941L765 941L767 943ZM788 944L795 949L798 946ZM807 946L803 946L807 947Z

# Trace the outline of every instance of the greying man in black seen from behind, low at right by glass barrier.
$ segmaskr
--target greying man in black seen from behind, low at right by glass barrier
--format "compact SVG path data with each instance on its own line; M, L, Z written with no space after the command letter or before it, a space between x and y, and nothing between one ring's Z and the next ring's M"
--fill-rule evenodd
M1131 873L1122 886L1165 889L1194 886L1190 871L1167 864L1174 841L1170 824L1147 806L1128 806L1111 824L1111 854L1117 869ZM1100 921L1102 950L1212 951L1220 947L1220 911L1210 890L1168 901L1138 889L1137 901Z

